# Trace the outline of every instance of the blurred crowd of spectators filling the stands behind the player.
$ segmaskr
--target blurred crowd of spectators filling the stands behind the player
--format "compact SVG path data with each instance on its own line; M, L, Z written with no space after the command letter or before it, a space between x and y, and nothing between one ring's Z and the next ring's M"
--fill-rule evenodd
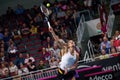
M47 0L43 2L45 6L46 3L50 2ZM95 14L96 8L94 6L99 4L99 0L93 0L93 6L84 5L82 0L56 1L50 4L50 7L48 7L51 10L48 18L50 24L55 33L67 42L68 39L75 37L74 33L76 33L77 29L74 22L76 16L73 14L85 9L89 9ZM60 48L48 31L47 21L44 17L39 6L34 5L31 9L25 9L20 4L17 5L15 10L8 7L6 14L0 16L1 78L58 66ZM41 42L41 57L38 64L29 53L26 52L25 56L23 56L24 53L20 52L17 47L23 44L21 42L24 37L29 39L31 36L37 36ZM21 42L16 43L15 40ZM107 54L109 49L111 52L120 51L118 47L118 45L120 46L119 40L119 31L116 31L115 36L110 41L106 36L101 38L101 53ZM79 48L78 52L80 52Z

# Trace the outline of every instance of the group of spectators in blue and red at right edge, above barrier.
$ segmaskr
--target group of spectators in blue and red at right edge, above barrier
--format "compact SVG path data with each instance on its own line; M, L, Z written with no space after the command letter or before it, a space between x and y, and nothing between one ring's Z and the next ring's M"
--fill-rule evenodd
M116 30L111 38L107 34L99 38L100 44L98 46L100 59L114 57L120 53L120 31Z

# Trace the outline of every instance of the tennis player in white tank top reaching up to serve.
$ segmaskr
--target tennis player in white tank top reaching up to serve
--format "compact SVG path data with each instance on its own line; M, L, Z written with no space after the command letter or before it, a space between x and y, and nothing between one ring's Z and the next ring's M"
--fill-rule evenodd
M58 80L76 80L75 69L77 68L77 61L79 60L79 53L75 49L75 43L73 40L69 40L65 43L61 40L53 31L52 27L49 28L53 38L61 46L61 61L58 69Z

